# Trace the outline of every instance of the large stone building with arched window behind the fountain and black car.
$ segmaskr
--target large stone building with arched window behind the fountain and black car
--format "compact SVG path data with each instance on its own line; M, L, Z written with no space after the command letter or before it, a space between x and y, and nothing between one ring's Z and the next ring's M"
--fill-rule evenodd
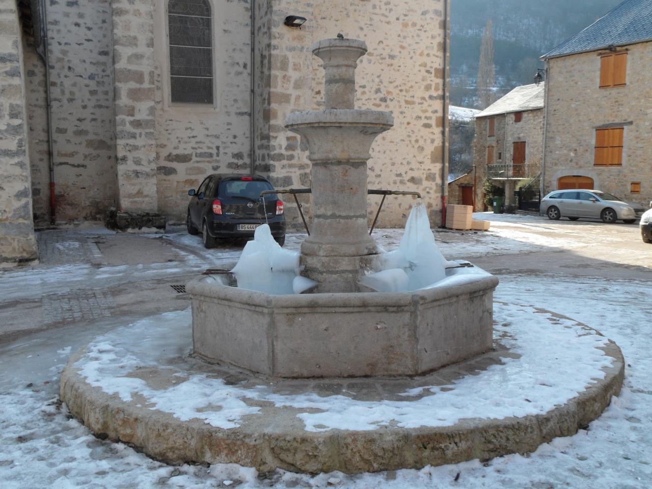
M36 256L34 226L102 220L111 206L183 222L188 189L210 173L310 186L306 148L284 125L323 106L310 46L338 33L369 49L357 107L394 114L370 188L421 192L439 224L448 3L0 0L0 261ZM393 198L378 225L404 224L410 205ZM286 213L298 222L291 201Z

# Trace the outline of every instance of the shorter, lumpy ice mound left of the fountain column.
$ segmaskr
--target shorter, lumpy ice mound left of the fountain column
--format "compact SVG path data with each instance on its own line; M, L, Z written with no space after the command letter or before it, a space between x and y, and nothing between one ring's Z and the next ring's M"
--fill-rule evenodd
M301 293L317 283L299 275L299 253L284 250L267 224L258 226L231 273L241 289L270 294Z

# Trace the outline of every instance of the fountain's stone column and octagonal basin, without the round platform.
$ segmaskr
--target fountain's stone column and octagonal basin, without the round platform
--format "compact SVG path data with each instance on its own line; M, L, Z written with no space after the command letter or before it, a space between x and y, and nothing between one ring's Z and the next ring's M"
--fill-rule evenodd
M454 284L404 293L360 284L381 256L368 233L367 160L394 121L354 108L363 41L321 40L312 52L325 68L325 109L292 113L287 127L310 151L313 222L301 264L318 285L270 295L190 282L194 353L267 376L313 378L419 375L487 351L494 276L453 268Z

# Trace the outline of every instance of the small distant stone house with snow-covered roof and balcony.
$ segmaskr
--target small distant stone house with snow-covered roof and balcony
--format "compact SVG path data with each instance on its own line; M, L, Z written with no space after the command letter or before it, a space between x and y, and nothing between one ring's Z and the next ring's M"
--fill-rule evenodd
M475 116L473 168L475 210L484 210L482 185L490 178L505 189L505 207L514 190L541 172L545 83L516 87Z

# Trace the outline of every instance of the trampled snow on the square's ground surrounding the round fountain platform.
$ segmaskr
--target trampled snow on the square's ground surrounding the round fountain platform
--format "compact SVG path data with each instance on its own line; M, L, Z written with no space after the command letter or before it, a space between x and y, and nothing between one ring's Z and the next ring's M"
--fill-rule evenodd
M480 215L482 218L482 215ZM460 250L456 235L436 233L437 243L449 258L467 258L491 254L501 245L490 234L501 228L518 231L520 224L530 226L533 218L492 216L496 228L473 235L473 245ZM503 222L504 221L504 222ZM559 226L554 222L545 226ZM510 224L511 223L511 224ZM577 225L578 223L574 223ZM503 238L514 235L501 230ZM571 233L571 241L582 241L580 227ZM469 233L470 234L470 233ZM400 234L394 230L374 231L381 244L393 248ZM469 238L470 236L464 237ZM505 249L529 249L544 246L516 235ZM205 253L198 237L171 235L173 243L190 254L196 252L195 267L231 263L239 249ZM288 245L296 249L301 235L288 236ZM194 240L194 241L192 241ZM384 240L384 241L383 241ZM462 241L460 239L460 241ZM504 240L503 240L504 241ZM466 243L466 241L465 241ZM557 243L557 241L556 241ZM196 251L193 249L196 248ZM201 252L201 253L200 253ZM223 254L224 252L224 254ZM236 256L237 255L237 256ZM222 261L224 257L225 261ZM147 270L166 273L166 267L190 270L184 263L163 263ZM178 266L177 266L178 265ZM0 273L1 301L7 294L40 297L46 291L83 286L96 279L103 285L128 280L127 267L67 265L69 268L31 267ZM111 269L111 270L107 270ZM97 278L97 274L108 274ZM226 487L346 487L371 488L505 488L505 489L647 489L652 486L652 335L649 334L652 282L619 281L604 278L576 278L557 274L501 275L496 300L530 304L554 310L595 327L623 350L627 363L625 384L618 398L603 415L572 437L555 439L527 456L510 455L481 463L478 460L421 470L348 476L341 473L316 477L284 471L257 474L235 465L166 466L130 447L102 441L70 419L65 406L57 402L59 372L74 351L98 333L135 322L130 318L102 318L93 323L74 323L50 331L31 334L10 344L0 345L0 487L23 488L216 488ZM87 282L86 282L87 283ZM437 394L438 395L438 394ZM496 393L501 396L501 391ZM330 481L330 482L329 482Z

